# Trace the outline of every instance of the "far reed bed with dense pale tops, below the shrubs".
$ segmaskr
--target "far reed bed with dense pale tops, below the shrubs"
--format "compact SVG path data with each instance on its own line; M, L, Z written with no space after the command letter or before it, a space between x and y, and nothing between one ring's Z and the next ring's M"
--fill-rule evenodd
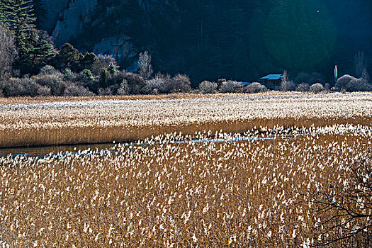
M372 94L12 98L0 102L0 147L142 140L165 133L372 123ZM57 100L56 100L57 99Z

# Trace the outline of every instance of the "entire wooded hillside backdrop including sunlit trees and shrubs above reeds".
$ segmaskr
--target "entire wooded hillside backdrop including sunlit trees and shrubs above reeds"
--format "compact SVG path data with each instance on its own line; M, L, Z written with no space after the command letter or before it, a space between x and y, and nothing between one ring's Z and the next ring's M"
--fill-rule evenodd
M372 89L370 1L61 3L0 0L0 95ZM112 55L116 39L127 55ZM282 73L276 86L242 84Z

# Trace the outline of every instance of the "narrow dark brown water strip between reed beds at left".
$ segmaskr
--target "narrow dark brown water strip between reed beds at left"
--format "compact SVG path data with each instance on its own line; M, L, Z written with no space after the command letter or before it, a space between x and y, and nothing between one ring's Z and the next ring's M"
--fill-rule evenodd
M113 143L106 144L90 144L90 145L52 145L47 147L18 147L0 149L0 157L6 155L20 155L26 154L30 157L40 157L46 154L57 154L58 152L77 152L79 150L105 150L113 147Z

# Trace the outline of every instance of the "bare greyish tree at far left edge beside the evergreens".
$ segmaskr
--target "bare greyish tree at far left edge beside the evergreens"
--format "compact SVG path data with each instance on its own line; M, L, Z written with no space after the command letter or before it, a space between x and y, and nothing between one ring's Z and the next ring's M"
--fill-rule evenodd
M0 80L11 75L12 64L16 56L13 34L0 23Z

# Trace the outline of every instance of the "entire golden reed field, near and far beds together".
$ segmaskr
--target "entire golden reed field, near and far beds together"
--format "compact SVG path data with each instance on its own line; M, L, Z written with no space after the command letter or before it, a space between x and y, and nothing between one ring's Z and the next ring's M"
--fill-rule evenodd
M0 157L0 247L371 247L371 96L9 99L2 147L130 142Z

